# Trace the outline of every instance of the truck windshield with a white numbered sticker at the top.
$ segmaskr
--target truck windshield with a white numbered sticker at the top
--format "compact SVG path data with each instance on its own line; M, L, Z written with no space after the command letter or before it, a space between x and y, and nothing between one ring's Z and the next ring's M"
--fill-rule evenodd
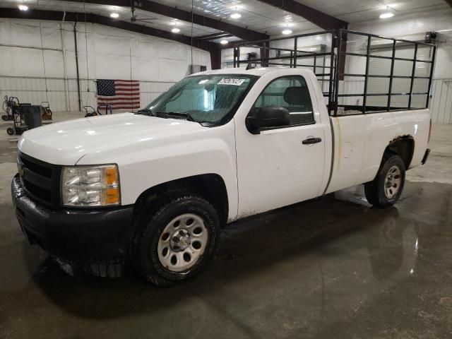
M218 124L251 88L256 76L215 74L189 76L157 97L141 114Z

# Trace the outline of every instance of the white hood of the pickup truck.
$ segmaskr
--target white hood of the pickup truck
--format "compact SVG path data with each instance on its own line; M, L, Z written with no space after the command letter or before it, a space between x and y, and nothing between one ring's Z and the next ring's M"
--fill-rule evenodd
M20 152L55 165L75 165L86 154L202 131L193 121L124 113L74 119L23 133Z

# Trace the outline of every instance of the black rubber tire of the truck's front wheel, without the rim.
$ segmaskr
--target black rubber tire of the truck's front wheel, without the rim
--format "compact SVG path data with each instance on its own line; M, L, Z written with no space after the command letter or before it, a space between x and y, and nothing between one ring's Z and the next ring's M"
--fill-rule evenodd
M160 207L148 209L144 206L138 214L133 227L130 256L138 273L150 283L157 286L171 286L191 278L206 266L210 257L213 256L218 239L220 239L220 219L215 208L201 196L190 194L172 198L164 196L159 200L164 201L160 203ZM203 225L208 232L208 240L203 254L199 256L194 266L175 272L162 265L157 248L162 232L167 225L170 225L169 222L186 213L197 215L203 219ZM187 223L187 225L189 224Z

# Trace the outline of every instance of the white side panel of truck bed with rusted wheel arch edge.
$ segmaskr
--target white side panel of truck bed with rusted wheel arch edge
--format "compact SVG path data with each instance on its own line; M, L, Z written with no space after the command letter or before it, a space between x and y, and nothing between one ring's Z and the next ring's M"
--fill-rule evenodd
M331 174L325 193L374 179L388 144L409 138L408 169L421 164L429 138L429 109L330 117ZM412 153L412 154L410 154Z

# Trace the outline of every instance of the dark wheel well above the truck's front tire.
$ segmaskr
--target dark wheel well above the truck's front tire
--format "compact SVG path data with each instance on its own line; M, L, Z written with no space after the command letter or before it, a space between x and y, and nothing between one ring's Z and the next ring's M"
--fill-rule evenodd
M153 186L138 197L137 210L145 204L153 203L162 194L198 194L215 207L221 225L226 225L229 213L227 190L225 182L218 174L200 174Z

